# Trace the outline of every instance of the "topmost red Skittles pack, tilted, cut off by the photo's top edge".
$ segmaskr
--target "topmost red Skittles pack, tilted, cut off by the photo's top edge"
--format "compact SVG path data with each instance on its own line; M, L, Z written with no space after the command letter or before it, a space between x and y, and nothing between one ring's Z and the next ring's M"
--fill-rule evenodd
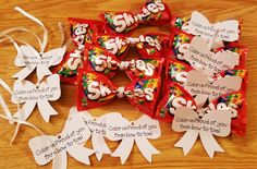
M147 0L136 12L105 12L100 17L107 23L110 29L115 33L127 33L138 24L164 25L171 22L169 7L161 0Z

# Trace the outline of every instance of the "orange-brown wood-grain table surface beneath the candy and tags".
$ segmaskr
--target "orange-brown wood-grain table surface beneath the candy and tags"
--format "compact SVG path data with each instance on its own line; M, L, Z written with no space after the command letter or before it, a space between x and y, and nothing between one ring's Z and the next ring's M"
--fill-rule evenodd
M247 56L247 69L249 70L249 85L247 90L248 102L248 125L245 137L235 135L217 138L225 153L217 153L213 159L210 159L205 153L201 144L197 141L196 145L184 157L181 148L173 145L182 134L172 132L169 123L161 122L162 135L160 138L150 141L161 154L154 156L152 164L148 164L138 148L134 146L131 156L124 166L121 166L119 158L112 158L108 155L98 162L95 155L90 157L94 168L257 168L257 1L256 0L164 0L172 13L180 15L189 15L193 10L203 12L211 22L223 21L227 19L243 20L242 41L249 48ZM19 5L30 14L41 20L49 28L49 44L47 49L60 46L60 33L57 22L65 25L66 39L69 36L69 23L66 17L75 16L83 19L98 19L98 14L105 10L132 10L136 11L144 3L144 0L0 0L0 31L14 26L27 26L37 34L42 34L41 28L35 23L25 19L14 7ZM149 32L169 32L169 26L149 27L140 26L133 35ZM17 39L24 39L29 44L37 45L34 37L26 33L12 34ZM9 43L0 44L0 77L12 86L14 80L11 77L20 69L14 65L16 51ZM128 58L135 57L136 52L131 50ZM35 74L29 80L35 81ZM125 85L130 82L124 73L114 77L118 85ZM10 100L9 94L1 88L0 90L7 100ZM15 105L8 101L10 109L14 113ZM46 123L36 109L29 122L36 124L47 134L58 134L61 132L69 110L75 105L75 86L62 85L62 96L60 100L52 102L59 114L52 117L50 123ZM1 113L2 110L0 110ZM108 106L90 110L91 114L100 116L106 112L118 111L125 118L135 120L142 116L142 112L135 110L125 99L117 99ZM13 145L9 142L14 132L15 125L9 125L8 121L0 119L0 168L51 168L51 164L39 167L34 161L32 153L27 146L29 138L37 136L38 133L27 126L22 126L17 138ZM119 143L108 142L112 150ZM90 144L88 144L90 146ZM69 168L89 168L69 156Z

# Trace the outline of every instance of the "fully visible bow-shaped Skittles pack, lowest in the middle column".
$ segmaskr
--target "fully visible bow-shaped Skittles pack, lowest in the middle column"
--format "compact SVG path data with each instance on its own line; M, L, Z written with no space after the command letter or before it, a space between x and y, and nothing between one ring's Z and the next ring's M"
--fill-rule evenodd
M126 87L117 87L105 75L79 70L77 79L77 109L87 110L110 102L115 96L125 96L139 111L152 117L159 97L160 79L135 81Z

